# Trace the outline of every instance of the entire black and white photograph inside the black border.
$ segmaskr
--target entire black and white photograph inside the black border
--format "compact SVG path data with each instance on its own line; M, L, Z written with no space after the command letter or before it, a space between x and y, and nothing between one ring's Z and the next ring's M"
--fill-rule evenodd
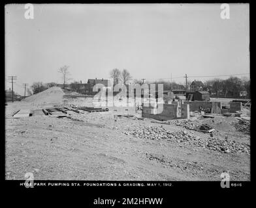
M249 3L5 5L5 180L251 181L249 30Z

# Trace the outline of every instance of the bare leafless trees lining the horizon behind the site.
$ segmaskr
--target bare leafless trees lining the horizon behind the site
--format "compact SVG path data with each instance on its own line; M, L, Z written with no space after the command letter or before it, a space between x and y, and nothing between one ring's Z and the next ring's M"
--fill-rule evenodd
M61 73L61 78L63 80L63 88L67 84L69 80L69 66L63 66L59 68L58 72ZM118 68L114 68L110 71L110 78L113 80L113 84L142 84L142 80L132 79L131 74L128 70L123 69L119 70ZM176 83L174 81L146 81L147 84L163 84L163 90L185 90L185 86L182 83ZM191 85L191 81L187 81L187 86ZM36 82L31 86L33 90L33 94L37 94L46 90L52 86L56 86L57 83L42 83ZM80 82L74 81L70 85L71 90L78 92L80 90ZM157 86L157 85L156 85ZM210 92L210 94L216 97L240 97L241 92L246 92L248 98L250 98L250 80L246 77L238 78L238 77L229 77L228 79L210 79L204 82L203 90Z

